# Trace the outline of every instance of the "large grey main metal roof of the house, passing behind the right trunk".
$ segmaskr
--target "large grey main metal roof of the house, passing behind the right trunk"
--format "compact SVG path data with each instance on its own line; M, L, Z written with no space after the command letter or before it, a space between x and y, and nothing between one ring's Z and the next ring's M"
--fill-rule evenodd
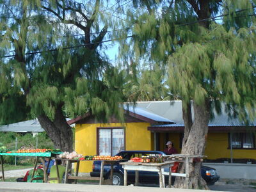
M182 118L182 102L181 100L175 101L145 101L137 102L137 108L147 109L148 112L163 116L168 120L175 122L176 124L184 124ZM223 106L224 107L224 106ZM192 108L193 112L193 108ZM192 113L193 114L193 113ZM192 116L193 118L193 116ZM230 118L225 111L222 111L221 115L218 115L214 110L214 118L209 121L209 125L218 126L238 126L244 125L237 118ZM256 119L252 122L252 125L256 125Z

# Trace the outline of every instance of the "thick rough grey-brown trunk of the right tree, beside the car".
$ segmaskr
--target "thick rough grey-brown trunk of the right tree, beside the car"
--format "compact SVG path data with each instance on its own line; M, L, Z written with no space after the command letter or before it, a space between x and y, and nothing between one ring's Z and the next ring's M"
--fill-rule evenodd
M188 129L185 124L185 135L184 137L181 154L188 155L204 155L205 142L208 132L208 123L210 118L210 107L209 102L205 101L205 104L197 105L193 104L194 108L194 122L191 129ZM189 122L189 115L183 115L184 122ZM191 118L191 117L190 117ZM200 167L201 162L189 163L189 179L186 181L185 177L176 177L175 188L192 188L192 189L209 189L204 179L202 179ZM184 164L180 164L179 173L184 173Z

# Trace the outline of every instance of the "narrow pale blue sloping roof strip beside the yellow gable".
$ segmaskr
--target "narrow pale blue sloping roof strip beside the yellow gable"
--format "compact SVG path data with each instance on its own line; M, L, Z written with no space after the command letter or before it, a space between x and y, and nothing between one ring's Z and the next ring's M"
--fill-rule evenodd
M124 106L124 109L132 113L136 113L138 115L141 115L141 116L145 116L147 118L150 118L156 122L170 122L172 123L173 121L168 119L168 118L164 118L163 116L160 116L160 115L157 115L156 113L152 113L151 111L148 111L148 109L145 109L145 108L134 108L133 106L129 106L127 108L127 106ZM173 122L174 123L174 122Z

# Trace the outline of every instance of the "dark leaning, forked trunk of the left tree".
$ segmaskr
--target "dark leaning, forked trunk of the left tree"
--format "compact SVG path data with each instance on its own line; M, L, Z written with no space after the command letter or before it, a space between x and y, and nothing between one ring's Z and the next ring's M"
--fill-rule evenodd
M49 138L51 138L55 148L60 148L61 151L72 152L73 132L67 124L66 118L61 111L61 106L56 109L53 121L44 114L37 118L42 128L46 131Z

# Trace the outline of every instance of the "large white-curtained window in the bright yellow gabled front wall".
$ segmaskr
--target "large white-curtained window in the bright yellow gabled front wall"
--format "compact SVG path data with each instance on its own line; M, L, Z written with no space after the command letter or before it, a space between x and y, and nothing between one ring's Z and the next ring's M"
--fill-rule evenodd
M99 128L98 129L98 152L99 156L115 156L124 150L123 128Z

